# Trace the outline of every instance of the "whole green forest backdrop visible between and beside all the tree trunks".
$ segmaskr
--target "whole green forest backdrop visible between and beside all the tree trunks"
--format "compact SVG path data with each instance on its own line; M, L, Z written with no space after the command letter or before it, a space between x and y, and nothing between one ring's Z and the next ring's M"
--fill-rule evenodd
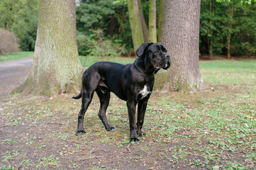
M33 51L38 23L38 0L0 2L0 44L11 39L20 50ZM157 23L160 16L157 0ZM149 1L141 0L145 23L149 19ZM200 57L241 57L256 55L255 2L201 1ZM128 6L115 0L77 1L77 47L79 55L132 56L133 40ZM157 35L160 34L157 24ZM10 38L9 38L10 39ZM157 38L157 41L160 41ZM13 45L17 49L17 45ZM230 56L228 56L230 51ZM0 49L3 54L5 49Z

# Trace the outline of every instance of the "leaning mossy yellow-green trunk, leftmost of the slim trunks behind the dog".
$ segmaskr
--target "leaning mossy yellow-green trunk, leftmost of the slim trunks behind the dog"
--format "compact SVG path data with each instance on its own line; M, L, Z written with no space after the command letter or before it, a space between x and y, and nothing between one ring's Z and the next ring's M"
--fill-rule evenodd
M133 48L134 51L144 42L143 28L140 21L140 14L138 8L138 0L128 0L128 12L130 29L133 37Z

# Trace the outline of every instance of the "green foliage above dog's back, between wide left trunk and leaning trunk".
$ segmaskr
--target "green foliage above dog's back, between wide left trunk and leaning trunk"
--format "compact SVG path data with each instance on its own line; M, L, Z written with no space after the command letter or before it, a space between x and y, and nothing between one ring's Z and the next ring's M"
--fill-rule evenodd
M102 49L102 44L106 44L105 42L109 44L108 46L113 45L114 48L121 45L121 47L118 47L118 51L121 51L121 53L126 53L127 50L133 47L130 40L127 6L122 3L113 4L113 2L113 0L82 1L80 6L77 6L79 55L92 54L91 45L98 46L99 44L101 47L94 47L94 49ZM99 33L99 30L102 30L101 33ZM100 39L106 41L100 42ZM84 43L88 40L91 43ZM113 47L108 49L112 50ZM95 52L98 53L97 56L104 56L100 54L102 50L101 52Z

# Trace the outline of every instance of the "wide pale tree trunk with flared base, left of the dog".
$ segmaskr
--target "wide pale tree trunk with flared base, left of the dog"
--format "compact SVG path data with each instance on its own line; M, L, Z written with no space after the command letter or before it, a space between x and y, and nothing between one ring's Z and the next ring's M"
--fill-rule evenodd
M17 91L46 96L65 93L74 89L81 75L75 1L40 0L32 68Z

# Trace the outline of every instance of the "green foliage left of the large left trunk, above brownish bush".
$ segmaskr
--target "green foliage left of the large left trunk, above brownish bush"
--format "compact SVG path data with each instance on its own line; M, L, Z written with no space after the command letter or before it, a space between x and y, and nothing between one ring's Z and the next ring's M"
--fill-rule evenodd
M1 0L0 28L18 36L22 50L34 50L39 0Z

